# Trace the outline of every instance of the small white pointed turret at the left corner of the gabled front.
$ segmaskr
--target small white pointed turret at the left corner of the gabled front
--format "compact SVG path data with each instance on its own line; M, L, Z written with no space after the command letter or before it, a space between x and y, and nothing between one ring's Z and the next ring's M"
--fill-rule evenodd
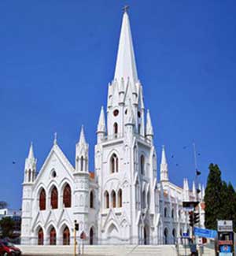
M36 178L36 163L37 160L34 155L33 143L31 143L28 152L28 158L25 159L24 165L24 183L33 183Z

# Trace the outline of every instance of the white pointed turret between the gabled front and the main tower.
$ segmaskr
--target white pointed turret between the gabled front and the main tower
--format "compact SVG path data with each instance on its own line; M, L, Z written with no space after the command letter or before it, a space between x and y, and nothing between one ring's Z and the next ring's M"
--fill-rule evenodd
M79 136L79 143L76 144L76 173L88 173L88 148L89 146L86 142L82 126Z

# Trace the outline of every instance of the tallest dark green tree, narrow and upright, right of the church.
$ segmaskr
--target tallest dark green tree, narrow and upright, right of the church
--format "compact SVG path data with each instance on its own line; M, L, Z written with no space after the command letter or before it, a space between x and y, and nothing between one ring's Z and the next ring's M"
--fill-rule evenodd
M223 182L218 165L209 165L209 175L205 189L205 227L216 229L217 219L222 217L223 213ZM225 198L224 198L225 200Z

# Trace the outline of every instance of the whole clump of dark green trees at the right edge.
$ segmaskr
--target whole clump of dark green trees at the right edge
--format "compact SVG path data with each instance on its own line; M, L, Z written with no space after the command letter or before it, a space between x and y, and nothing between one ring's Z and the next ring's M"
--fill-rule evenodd
M221 179L218 165L209 165L205 189L205 227L217 229L217 220L234 221L236 229L236 193L232 184Z

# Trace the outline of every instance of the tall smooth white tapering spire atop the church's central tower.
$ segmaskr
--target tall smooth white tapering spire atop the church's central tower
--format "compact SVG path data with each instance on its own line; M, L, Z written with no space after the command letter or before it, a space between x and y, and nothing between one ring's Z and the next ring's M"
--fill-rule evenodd
M122 77L125 81L127 81L128 77L133 83L136 83L138 81L135 63L135 53L127 8L124 9L124 15L121 25L114 80L116 79L120 81Z

